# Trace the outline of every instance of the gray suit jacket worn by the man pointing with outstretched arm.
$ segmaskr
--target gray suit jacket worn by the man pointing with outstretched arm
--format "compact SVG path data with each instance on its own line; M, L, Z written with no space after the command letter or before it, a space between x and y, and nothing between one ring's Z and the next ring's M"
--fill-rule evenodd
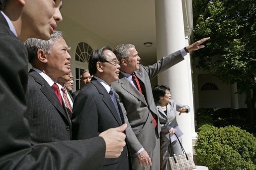
M156 144L155 135L159 137L161 131L158 112L152 94L151 79L183 59L180 51L177 51L167 57L163 57L153 65L140 65L140 69L135 73L140 80L145 96L122 73L119 74L119 80L111 83L111 87L119 96L120 105L125 109L128 121L134 132L129 137L127 135L127 143L131 154L138 152L141 146L147 152L153 152ZM156 129L154 129L152 113L158 122ZM138 140L134 140L136 137Z

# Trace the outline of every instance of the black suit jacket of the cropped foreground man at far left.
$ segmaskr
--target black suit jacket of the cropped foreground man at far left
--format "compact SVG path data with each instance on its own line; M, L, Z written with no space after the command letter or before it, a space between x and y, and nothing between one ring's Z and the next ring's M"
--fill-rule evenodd
M101 137L31 146L26 109L28 57L0 13L0 170L90 170L104 160ZM97 160L97 161L95 161Z

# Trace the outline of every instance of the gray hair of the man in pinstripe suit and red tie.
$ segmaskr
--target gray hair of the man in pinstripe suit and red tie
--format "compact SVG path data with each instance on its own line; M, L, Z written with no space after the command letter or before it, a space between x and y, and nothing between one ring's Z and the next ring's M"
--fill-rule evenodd
M46 53L51 53L51 48L53 44L58 41L60 38L63 38L64 34L61 31L54 31L54 33L51 35L50 40L41 40L37 38L29 38L27 39L24 44L27 48L28 52L28 61L29 63L32 63L35 58L37 57L37 51L43 50Z

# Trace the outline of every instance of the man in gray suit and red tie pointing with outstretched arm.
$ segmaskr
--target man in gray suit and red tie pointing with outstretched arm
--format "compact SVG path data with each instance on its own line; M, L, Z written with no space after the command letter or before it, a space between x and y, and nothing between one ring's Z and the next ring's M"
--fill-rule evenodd
M111 86L118 94L118 101L126 111L124 113L133 129L134 134L129 136L138 139L129 140L127 134L134 170L143 170L145 167L147 167L145 169L160 170L161 127L150 80L182 61L188 52L203 48L204 46L200 44L208 39L197 41L149 66L140 64L140 57L132 44L121 44L114 49L113 53L120 61L121 67L119 80L111 83Z

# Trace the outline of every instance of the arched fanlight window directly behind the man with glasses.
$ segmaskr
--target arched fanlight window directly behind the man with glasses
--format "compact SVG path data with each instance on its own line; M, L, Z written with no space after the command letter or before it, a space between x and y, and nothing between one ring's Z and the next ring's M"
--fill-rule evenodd
M78 44L76 49L76 90L82 88L82 83L80 80L80 73L85 69L88 69L88 60L90 58L92 48L85 42Z

